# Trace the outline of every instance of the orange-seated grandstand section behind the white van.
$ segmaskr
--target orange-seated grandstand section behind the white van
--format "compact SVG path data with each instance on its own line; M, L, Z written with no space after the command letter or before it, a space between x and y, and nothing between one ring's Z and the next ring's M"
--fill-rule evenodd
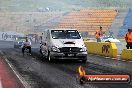
M73 11L60 21L58 28L76 28L79 31L88 32L90 35L102 26L108 30L118 12L116 10L80 10Z

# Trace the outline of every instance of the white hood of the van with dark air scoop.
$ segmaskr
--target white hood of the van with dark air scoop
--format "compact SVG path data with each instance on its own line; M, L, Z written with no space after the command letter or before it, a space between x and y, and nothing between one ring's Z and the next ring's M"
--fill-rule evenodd
M84 47L82 39L53 39L53 46L56 47Z

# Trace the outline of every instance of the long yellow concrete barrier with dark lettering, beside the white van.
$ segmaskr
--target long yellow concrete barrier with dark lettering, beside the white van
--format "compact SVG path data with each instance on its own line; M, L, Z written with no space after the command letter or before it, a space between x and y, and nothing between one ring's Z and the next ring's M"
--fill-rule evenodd
M87 52L96 55L117 57L117 46L110 42L84 42L87 47Z

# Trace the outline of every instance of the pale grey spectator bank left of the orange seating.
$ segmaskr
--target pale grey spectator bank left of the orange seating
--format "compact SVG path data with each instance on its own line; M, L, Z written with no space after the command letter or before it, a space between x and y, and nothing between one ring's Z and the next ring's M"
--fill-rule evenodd
M61 15L62 12L0 12L0 31L38 32L39 26Z

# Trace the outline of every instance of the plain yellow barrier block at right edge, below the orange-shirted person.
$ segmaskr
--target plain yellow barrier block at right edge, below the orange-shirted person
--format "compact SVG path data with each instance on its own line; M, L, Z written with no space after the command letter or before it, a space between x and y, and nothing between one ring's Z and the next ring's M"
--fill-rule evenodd
M132 60L132 49L123 49L121 53L122 60Z

